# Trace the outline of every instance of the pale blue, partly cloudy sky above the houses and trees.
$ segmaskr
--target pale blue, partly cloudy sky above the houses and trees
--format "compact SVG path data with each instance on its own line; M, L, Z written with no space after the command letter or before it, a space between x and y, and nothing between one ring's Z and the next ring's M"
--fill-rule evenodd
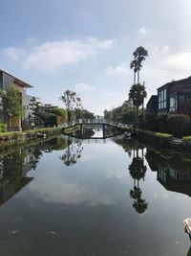
M122 105L140 45L147 101L191 76L190 0L0 0L0 13L0 69L32 84L43 104L64 107L69 89L98 115Z

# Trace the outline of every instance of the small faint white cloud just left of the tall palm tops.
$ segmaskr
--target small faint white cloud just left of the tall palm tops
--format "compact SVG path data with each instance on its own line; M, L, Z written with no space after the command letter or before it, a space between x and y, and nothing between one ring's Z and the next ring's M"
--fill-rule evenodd
M106 72L108 75L112 75L112 76L123 76L123 77L128 77L130 75L130 67L128 64L126 63L122 63L120 65L117 66L108 66L106 68Z

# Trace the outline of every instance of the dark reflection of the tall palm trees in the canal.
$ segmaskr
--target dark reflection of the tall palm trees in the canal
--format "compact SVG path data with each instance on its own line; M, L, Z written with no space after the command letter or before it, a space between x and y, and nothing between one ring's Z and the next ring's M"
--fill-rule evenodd
M136 155L136 152L137 152L137 155ZM135 199L133 203L133 207L136 209L138 214L143 213L148 207L148 203L145 201L145 199L141 198L142 191L139 188L139 181L140 179L144 180L146 171L147 171L147 168L144 165L143 151L142 151L142 157L138 156L138 150L134 151L134 157L133 157L132 163L129 166L129 173L134 179L134 189L130 190L130 197Z

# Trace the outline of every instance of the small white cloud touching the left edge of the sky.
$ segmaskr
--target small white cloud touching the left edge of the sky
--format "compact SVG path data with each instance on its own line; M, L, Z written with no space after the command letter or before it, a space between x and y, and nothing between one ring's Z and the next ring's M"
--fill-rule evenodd
M0 51L1 55L11 60L19 60L25 56L25 50L21 47L9 47Z

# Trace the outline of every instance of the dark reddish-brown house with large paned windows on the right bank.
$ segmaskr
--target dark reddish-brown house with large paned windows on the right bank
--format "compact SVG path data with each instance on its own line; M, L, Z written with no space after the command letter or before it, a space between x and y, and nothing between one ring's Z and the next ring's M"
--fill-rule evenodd
M191 77L167 82L153 96L147 104L148 113L155 113L158 105L158 113L191 115Z

